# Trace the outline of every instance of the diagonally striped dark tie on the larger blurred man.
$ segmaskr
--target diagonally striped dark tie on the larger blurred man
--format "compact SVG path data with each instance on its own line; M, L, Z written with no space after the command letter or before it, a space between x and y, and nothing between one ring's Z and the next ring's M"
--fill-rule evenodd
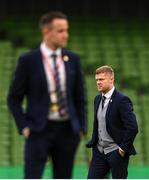
M59 106L59 114L60 116L66 116L67 115L67 100L66 96L61 90L61 85L60 85L60 75L58 71L58 66L56 64L56 54L51 55L53 59L53 64L54 64L54 79L55 79L55 91L57 94L57 101L58 101L58 106Z

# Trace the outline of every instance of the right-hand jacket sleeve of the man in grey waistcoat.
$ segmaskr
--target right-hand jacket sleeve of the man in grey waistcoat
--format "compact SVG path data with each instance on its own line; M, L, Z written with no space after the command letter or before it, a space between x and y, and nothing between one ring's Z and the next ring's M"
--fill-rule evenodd
M128 97L124 97L121 101L120 114L125 129L124 137L120 148L123 149L125 152L129 153L136 134L138 133L138 125L136 121L136 116L133 113L132 102Z

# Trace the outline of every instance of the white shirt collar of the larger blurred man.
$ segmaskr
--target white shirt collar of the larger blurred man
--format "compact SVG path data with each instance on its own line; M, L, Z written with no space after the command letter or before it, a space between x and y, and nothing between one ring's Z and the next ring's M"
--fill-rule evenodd
M61 54L62 54L61 48L58 48L58 49L56 49L56 51L53 51L46 46L45 42L41 43L40 49L44 53L44 55L46 55L48 57L50 57L53 53L56 54L57 56L61 56Z

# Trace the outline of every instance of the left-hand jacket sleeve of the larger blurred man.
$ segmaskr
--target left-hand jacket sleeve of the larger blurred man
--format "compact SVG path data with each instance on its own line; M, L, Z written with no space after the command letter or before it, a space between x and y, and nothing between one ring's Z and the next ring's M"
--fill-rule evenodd
M7 103L12 115L16 121L19 133L27 126L25 114L22 108L22 102L27 87L27 67L26 61L22 57L19 59L16 71L9 89Z

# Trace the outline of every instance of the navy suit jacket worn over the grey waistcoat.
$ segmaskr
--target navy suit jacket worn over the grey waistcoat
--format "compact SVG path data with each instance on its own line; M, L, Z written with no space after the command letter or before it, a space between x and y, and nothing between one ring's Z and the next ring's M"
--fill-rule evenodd
M98 120L97 110L100 104L101 95L94 100L94 126L92 139L87 147L94 147L98 143ZM106 112L106 128L113 140L129 155L136 154L133 141L138 132L136 117L133 113L131 100L114 90L109 101Z

